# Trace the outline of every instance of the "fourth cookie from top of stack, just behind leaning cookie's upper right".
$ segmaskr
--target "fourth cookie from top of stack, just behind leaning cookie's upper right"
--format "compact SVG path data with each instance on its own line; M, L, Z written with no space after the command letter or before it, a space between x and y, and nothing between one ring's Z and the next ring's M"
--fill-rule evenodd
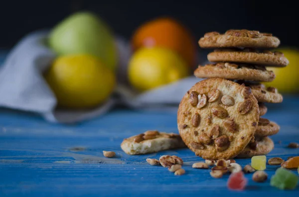
M261 83L252 83L249 81L237 81L239 84L244 83L251 88L253 95L259 102L264 103L281 103L283 102L283 96L278 93L275 87L267 87Z

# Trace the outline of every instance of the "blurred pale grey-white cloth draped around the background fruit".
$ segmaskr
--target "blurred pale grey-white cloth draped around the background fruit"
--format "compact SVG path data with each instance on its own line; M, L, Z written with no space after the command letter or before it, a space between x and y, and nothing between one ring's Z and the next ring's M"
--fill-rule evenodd
M23 38L8 54L0 67L0 106L35 112L47 121L75 123L90 119L109 111L116 104L124 104L143 110L177 110L185 92L200 79L190 76L156 89L135 93L126 81L126 68L130 58L130 47L117 39L120 55L115 93L106 102L92 110L61 110L56 108L56 98L42 76L56 57L46 47L47 31L39 31Z

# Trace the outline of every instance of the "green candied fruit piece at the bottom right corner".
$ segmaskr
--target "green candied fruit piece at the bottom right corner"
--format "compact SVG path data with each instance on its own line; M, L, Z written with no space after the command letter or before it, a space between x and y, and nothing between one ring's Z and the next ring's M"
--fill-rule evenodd
M275 175L271 177L270 185L281 190L296 188L299 177L290 170L285 168L278 168Z

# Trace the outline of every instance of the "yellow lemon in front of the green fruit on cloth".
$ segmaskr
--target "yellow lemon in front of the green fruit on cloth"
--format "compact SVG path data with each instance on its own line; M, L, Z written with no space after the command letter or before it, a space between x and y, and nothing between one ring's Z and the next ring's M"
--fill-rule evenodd
M68 55L57 58L45 74L58 106L91 108L105 101L116 84L115 75L95 56Z

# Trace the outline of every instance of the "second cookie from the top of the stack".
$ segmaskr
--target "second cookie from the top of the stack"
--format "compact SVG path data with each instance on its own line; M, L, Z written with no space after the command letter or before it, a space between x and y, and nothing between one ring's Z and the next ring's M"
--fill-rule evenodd
M289 60L281 52L266 50L260 53L255 49L217 49L208 54L208 60L210 62L235 62L276 67L285 67L289 64Z

